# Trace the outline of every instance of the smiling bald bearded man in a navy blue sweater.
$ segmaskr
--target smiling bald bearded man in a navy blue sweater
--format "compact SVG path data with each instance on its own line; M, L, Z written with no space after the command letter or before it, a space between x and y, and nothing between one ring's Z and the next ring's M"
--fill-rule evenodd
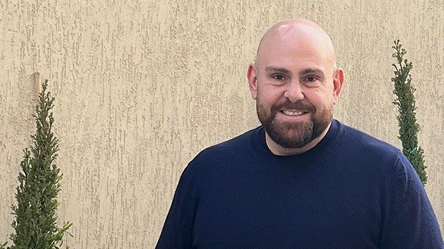
M247 76L262 126L189 163L157 248L443 248L407 158L332 120L344 74L321 27L278 22Z

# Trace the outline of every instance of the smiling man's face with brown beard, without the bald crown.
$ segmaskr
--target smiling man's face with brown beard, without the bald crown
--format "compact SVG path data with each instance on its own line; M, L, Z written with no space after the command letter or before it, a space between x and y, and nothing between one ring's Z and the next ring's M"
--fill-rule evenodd
M262 46L248 72L249 80L250 71L255 75L257 116L281 147L304 147L332 120L340 90L334 84L334 58L321 44L291 34Z

